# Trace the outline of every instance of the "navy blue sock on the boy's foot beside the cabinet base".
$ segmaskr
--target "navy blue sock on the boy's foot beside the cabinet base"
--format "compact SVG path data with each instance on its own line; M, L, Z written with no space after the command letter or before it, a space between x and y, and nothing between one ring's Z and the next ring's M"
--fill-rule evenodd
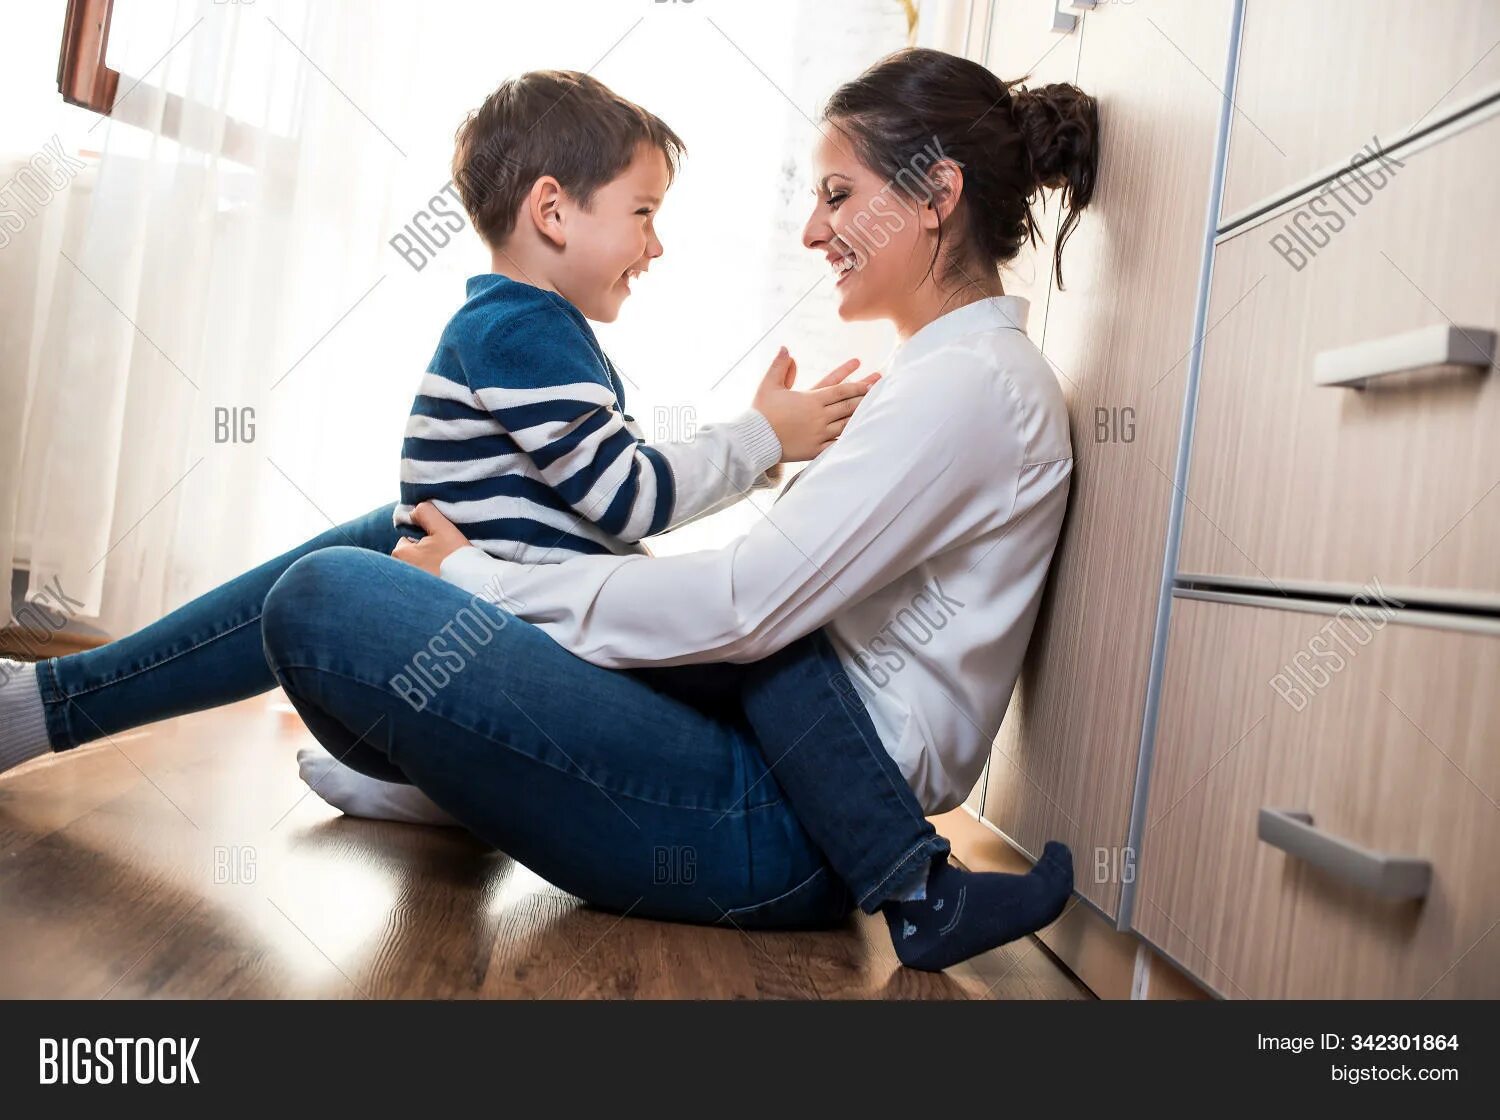
M1024 876L964 871L944 859L933 864L926 898L880 909L902 964L940 972L1050 925L1071 895L1072 853L1050 840Z

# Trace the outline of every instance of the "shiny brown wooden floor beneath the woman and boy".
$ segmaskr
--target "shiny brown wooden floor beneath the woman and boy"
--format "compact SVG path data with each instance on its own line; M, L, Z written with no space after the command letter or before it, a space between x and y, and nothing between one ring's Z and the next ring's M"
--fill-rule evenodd
M1035 939L944 975L885 924L590 910L454 829L340 817L250 700L0 778L0 997L1090 999Z

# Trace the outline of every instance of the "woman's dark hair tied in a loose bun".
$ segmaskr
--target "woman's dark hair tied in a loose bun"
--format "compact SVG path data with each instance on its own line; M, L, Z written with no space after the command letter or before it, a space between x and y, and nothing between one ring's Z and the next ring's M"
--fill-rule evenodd
M1094 198L1098 106L1077 85L1028 90L1023 81L1002 81L944 51L910 48L840 85L824 117L854 141L861 162L908 195L914 168L951 159L963 169L954 210L958 237L945 270L996 271L1023 244L1035 244L1032 202L1040 189L1060 190L1065 214L1053 250L1060 288L1062 246ZM939 226L934 265L942 244Z

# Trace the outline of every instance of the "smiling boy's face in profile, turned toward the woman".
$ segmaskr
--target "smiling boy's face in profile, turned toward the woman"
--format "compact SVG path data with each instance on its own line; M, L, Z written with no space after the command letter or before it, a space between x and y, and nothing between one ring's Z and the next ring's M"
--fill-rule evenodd
M630 295L630 279L662 255L656 213L670 174L666 156L642 144L618 177L572 207L567 249L558 261L558 292L596 322L614 322Z

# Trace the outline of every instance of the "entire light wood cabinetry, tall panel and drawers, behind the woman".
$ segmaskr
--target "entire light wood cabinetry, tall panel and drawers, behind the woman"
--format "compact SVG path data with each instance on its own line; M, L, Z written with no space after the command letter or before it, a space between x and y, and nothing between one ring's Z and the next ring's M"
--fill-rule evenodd
M1224 996L1500 996L1500 3L1052 9L969 28L1102 130L1006 277L1074 474L978 811Z

